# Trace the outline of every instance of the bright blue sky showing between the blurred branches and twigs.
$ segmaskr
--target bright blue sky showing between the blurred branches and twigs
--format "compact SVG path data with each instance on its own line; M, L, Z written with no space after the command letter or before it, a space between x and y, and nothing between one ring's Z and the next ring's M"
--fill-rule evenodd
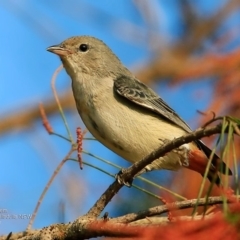
M206 9L206 14L216 11L219 3L209 2L198 1L200 8ZM182 31L182 26L178 25L181 19L178 4L174 0L153 3L161 13L158 31L162 40L174 42ZM124 40L128 39L124 30L127 23L139 27L143 36L147 33L132 1L0 1L0 16L0 117L52 98L50 79L60 61L46 48L68 37L92 35L102 39L130 69L151 56L146 37L136 44ZM203 110L212 94L210 80L171 88L163 82L153 87L192 127L197 126L192 121L196 110ZM61 93L68 88L70 79L63 71L57 80L57 89ZM200 100L195 97L197 91L204 92ZM77 114L67 114L66 117L73 134L77 126L83 126ZM56 132L66 135L58 115L49 120ZM86 142L84 149L122 166L127 165L99 143ZM0 136L0 210L6 209L10 215L31 214L52 172L68 150L67 142L47 135L41 121L27 130ZM83 159L103 166L91 157L84 156ZM108 166L104 168L111 173L118 171ZM163 173L161 176L167 175ZM74 220L86 213L112 181L95 169L85 167L80 171L78 164L68 162L45 196L33 227L57 222L61 201L66 204L65 220ZM129 191L122 190L125 195ZM121 195L112 204L116 204L119 198ZM21 231L26 226L25 220L0 219L0 234Z

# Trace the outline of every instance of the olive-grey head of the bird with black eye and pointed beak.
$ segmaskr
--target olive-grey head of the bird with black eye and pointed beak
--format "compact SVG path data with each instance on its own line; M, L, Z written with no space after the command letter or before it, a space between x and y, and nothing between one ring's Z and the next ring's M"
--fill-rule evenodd
M61 58L63 66L71 78L76 74L84 73L106 77L126 71L111 49L94 37L72 37L47 48L47 51L55 53Z

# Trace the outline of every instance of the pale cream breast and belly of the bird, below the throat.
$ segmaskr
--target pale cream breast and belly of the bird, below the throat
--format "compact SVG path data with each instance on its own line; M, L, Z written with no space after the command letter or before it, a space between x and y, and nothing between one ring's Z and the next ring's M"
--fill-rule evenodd
M106 147L130 162L147 156L185 131L169 124L157 114L114 94L112 86L99 86L75 96L79 114L91 134ZM81 99L81 100L80 100ZM179 168L179 156L168 154L155 161L154 168Z

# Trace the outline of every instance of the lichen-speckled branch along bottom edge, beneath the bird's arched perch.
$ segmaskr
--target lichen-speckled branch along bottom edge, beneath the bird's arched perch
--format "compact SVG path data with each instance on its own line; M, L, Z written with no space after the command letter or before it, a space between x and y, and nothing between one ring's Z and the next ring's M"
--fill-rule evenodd
M228 203L234 203L237 201L228 199ZM206 203L208 205L222 204L223 197L209 197L207 200L205 198L201 199L192 199L180 202L173 202L163 206L157 206L150 208L148 210L139 212L137 214L127 214L122 217L113 218L108 221L106 220L96 220L93 218L89 218L88 216L82 216L78 218L73 223L68 224L54 224L49 227L45 227L39 230L31 230L28 232L20 232L13 233L11 236L11 240L19 239L19 240L39 240L39 239L86 239L93 238L99 236L106 237L136 237L141 234L140 228L142 226L141 221L139 219L144 219L149 216L159 215L168 211L178 210L178 209L186 209L192 208L198 202L198 206L204 206ZM213 217L214 214L211 214ZM184 216L184 218L188 218ZM190 219L191 218L191 219ZM199 220L202 219L202 216L197 217L189 217L188 220ZM209 215L207 215L209 218ZM179 219L182 219L180 217ZM154 220L154 218L148 219L151 225L166 223L169 221L160 221L159 218ZM126 225L125 223L134 223L134 225ZM149 225L149 224L148 224ZM134 226L134 227L133 227ZM5 240L6 236L1 236L0 240Z

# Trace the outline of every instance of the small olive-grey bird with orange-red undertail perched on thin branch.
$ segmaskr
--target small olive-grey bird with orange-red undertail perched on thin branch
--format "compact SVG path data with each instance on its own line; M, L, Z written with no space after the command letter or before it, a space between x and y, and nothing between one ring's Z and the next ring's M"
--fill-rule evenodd
M47 51L60 57L71 77L77 110L87 129L127 161L140 161L165 142L192 132L101 40L91 36L72 37ZM203 175L210 154L211 150L196 140L156 159L140 173L185 167ZM217 172L232 175L215 154L208 179L219 185Z

